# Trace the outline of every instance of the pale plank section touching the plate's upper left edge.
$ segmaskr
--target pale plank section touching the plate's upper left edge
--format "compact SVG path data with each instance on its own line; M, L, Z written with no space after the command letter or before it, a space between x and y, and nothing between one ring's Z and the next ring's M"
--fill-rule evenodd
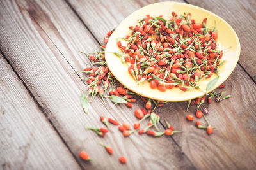
M81 17L81 20L83 20L86 27L88 27L88 29L92 32L93 36L97 38L97 41L99 41L100 44L103 44L106 33L115 29L115 27L117 27L125 17L143 6L157 3L159 1L117 0L113 2L102 0L67 0L67 2L77 12L79 17ZM184 3L182 0L180 0L180 2Z

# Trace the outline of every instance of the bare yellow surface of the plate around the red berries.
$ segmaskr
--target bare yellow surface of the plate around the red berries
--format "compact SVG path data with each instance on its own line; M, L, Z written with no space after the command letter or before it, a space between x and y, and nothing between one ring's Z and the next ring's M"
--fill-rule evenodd
M148 14L151 16L163 15L163 18L167 19L170 17L170 15L172 15L172 11L175 11L178 15L184 12L191 13L191 18L195 19L196 22L202 22L204 18L207 18L207 27L214 27L214 22L216 22L218 31L218 49L222 50L230 47L228 50L225 50L223 54L222 60L226 60L226 62L220 67L220 78L211 90L216 89L216 87L218 87L228 78L228 76L230 76L236 67L240 55L240 43L236 32L227 22L225 22L225 20L210 11L204 10L203 8L199 8L191 4L177 2L155 3L140 8L140 10L137 10L129 15L120 23L120 25L118 25L118 27L116 27L115 31L109 38L106 46L106 52L120 53L120 50L116 45L116 38L124 38L125 35L130 34L128 27L131 25L136 25L137 20L140 20ZM198 82L200 89L202 89L204 92L198 89L183 92L178 88L168 89L166 92L161 92L157 89L151 89L150 83L148 82L136 85L136 82L128 73L129 65L126 63L122 64L120 58L116 57L116 55L106 53L106 62L111 73L113 73L115 78L125 87L133 92L136 92L137 94L140 94L141 96L161 101L186 101L200 97L205 94L207 83L216 77L216 75L213 74L211 78Z

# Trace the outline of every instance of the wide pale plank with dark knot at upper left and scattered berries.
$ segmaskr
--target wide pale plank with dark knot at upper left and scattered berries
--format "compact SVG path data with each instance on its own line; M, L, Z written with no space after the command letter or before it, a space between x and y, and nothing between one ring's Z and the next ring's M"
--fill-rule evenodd
M84 46L87 51L97 44L65 2L1 2L1 15L4 16L1 20L1 49L77 159L80 150L92 155L94 161L81 163L83 167L194 168L170 138L153 139L138 134L123 138L116 128L113 129L115 133L109 132L106 137L99 138L94 132L84 130L84 124L103 126L99 115L114 117L131 125L136 122L136 118L133 110L124 106L109 110L112 103L108 101L108 105L104 106L99 99L90 104L90 113L84 114L79 95L85 85L78 80L73 68L81 69L88 62L73 52ZM97 142L113 146L115 155L109 156ZM169 145L172 147L166 150ZM127 157L127 166L118 162L120 155Z

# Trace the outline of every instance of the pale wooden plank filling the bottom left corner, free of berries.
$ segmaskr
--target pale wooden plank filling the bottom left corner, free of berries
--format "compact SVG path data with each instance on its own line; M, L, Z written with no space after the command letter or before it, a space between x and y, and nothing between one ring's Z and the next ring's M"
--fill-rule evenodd
M1 169L81 169L0 54Z

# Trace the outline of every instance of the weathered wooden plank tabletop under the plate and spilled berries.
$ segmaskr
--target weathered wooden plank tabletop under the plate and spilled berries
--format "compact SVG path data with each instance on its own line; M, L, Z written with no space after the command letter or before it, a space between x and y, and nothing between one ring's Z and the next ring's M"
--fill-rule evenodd
M110 101L105 106L97 98L86 115L79 102L86 83L75 71L89 60L77 51L92 52L127 15L156 2L0 1L0 169L255 169L256 1L183 1L220 15L241 41L239 63L225 81L232 97L209 106L214 134L186 121L186 102L157 110L161 131L164 119L183 131L171 138L123 138L117 128L99 138L84 129L99 126L99 115L133 124L143 103L109 109ZM113 146L114 155L98 142ZM81 160L81 150L94 160Z

